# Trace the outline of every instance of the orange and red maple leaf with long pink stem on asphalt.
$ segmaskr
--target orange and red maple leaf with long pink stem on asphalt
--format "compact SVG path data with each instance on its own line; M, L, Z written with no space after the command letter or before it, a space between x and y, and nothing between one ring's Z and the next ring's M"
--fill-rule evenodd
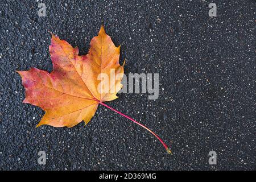
M118 98L116 94L122 88L125 63L119 64L119 52L120 46L115 47L103 26L98 36L91 40L88 54L81 56L77 47L73 48L52 34L49 53L53 71L48 73L37 68L17 71L26 90L23 103L39 106L46 111L37 127L73 127L81 121L87 124L96 113L98 105L104 105L150 131L171 154L167 145L146 126L103 103ZM113 70L118 78L115 78L109 89L114 87L114 92L101 92L102 80L98 76L103 73L111 75Z

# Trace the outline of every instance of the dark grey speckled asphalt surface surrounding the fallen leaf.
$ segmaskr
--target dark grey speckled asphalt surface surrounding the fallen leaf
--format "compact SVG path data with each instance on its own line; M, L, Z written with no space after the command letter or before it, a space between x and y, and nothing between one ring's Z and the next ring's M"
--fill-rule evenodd
M38 3L46 3L46 17ZM209 17L208 5L217 5ZM120 94L92 121L35 128L15 70L52 71L49 31L86 54L104 22L125 73L159 73L159 98ZM255 1L0 1L1 170L237 170L255 166ZM209 151L217 164L209 165ZM46 151L47 164L37 163Z

